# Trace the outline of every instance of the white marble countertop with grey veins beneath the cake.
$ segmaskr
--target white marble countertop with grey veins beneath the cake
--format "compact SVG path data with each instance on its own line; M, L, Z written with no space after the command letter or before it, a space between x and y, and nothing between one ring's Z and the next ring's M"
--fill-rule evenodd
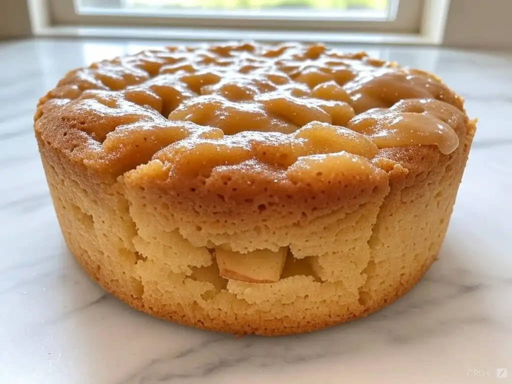
M365 48L435 72L479 118L439 261L365 319L236 338L138 313L91 282L62 240L39 161L39 96L69 69L156 45L0 44L0 383L512 382L512 55Z

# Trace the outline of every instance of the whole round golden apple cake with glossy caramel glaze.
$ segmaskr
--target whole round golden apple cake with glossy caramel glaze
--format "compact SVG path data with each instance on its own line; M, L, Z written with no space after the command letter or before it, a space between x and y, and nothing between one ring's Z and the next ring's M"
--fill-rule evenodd
M83 269L233 334L365 316L436 260L475 133L436 76L323 45L167 47L69 72L34 118Z

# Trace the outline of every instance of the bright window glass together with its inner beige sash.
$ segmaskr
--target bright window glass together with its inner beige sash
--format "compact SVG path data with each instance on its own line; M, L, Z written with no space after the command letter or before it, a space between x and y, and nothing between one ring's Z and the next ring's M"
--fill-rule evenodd
M41 0L44 1L44 0ZM419 33L431 0L46 0L57 25ZM233 36L233 38L238 38Z

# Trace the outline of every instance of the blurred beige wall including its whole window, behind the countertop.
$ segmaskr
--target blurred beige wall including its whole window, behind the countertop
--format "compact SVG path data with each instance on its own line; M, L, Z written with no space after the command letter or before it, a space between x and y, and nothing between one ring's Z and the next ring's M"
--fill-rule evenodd
M510 0L0 0L0 39L256 39L512 48Z

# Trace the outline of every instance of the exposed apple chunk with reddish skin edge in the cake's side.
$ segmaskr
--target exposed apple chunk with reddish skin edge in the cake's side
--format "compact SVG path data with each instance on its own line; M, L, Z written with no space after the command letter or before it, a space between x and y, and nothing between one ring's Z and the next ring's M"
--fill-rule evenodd
M249 253L217 248L215 254L223 278L246 283L276 283L285 265L288 247L277 252L257 249Z

